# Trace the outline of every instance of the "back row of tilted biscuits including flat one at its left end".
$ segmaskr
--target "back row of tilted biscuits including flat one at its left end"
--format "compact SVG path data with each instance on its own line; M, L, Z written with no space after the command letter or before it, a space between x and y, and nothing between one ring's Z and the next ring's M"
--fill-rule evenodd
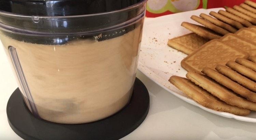
M191 19L203 26L182 22L181 26L193 33L168 41L170 47L187 55L210 40L219 39L226 34L236 33L239 29L256 25L256 3L245 0L239 6L227 7L226 11L219 10L218 13L212 11L209 15L203 13L199 16L192 15Z

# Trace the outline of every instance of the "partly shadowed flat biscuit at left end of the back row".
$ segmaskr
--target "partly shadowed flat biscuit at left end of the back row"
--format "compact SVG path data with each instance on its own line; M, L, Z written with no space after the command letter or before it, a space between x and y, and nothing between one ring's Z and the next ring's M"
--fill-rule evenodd
M189 33L170 39L168 45L189 55L208 41L195 33Z

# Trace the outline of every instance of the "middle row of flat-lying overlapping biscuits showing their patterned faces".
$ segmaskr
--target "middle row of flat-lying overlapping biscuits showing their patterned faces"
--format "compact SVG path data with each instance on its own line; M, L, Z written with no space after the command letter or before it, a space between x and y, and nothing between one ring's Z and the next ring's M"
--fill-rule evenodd
M248 56L256 56L256 26L205 43L184 58L181 66L187 71L200 73L203 67L215 68L217 64L225 65L227 61Z

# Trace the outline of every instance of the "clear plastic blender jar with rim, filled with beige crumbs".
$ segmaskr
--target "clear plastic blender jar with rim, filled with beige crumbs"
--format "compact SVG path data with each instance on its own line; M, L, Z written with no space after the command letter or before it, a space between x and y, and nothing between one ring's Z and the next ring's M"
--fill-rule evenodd
M0 11L0 39L34 116L56 123L87 123L128 104L145 2L76 16Z

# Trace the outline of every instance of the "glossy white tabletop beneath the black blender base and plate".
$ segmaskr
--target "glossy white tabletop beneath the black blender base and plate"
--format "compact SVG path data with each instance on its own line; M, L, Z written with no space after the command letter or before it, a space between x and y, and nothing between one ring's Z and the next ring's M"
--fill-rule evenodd
M6 104L17 84L0 45L0 140L20 140L8 124ZM159 87L138 71L137 77L150 93L145 121L122 140L253 140L256 123L224 118L190 105Z

